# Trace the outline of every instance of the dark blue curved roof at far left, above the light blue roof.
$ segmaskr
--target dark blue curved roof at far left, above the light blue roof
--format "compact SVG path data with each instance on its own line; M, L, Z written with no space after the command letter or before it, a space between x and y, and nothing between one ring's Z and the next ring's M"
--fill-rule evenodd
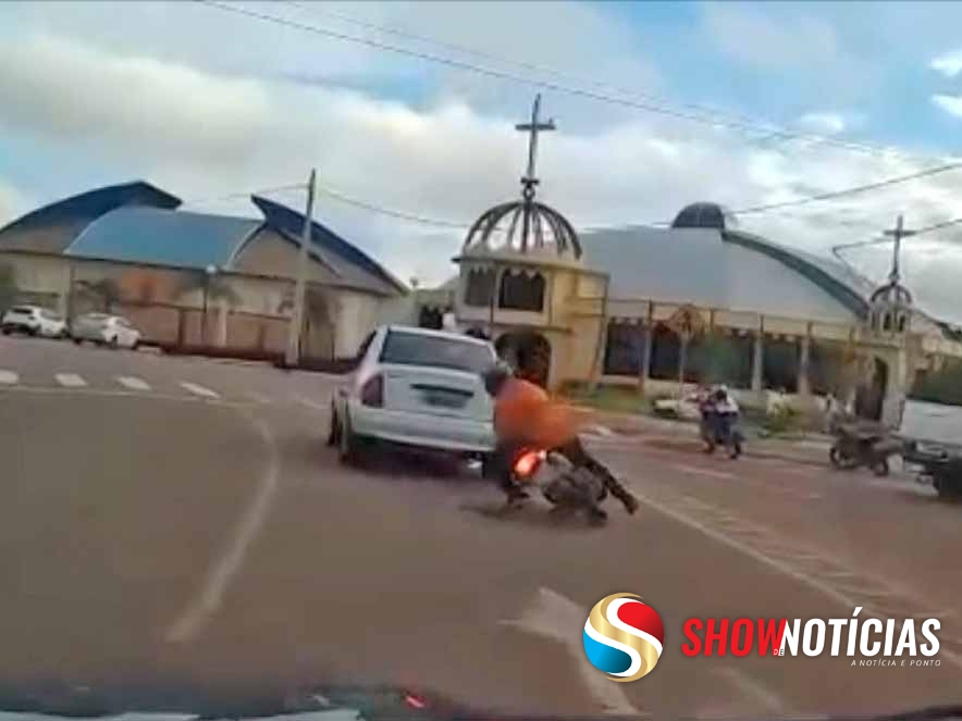
M110 185L82 192L64 200L58 200L49 206L38 208L26 215L9 223L0 228L0 246L14 245L15 238L23 238L26 243L18 243L30 247L26 234L32 231L47 231L51 227L67 227L73 232L81 231L88 223L97 220L112 210L124 206L146 206L150 208L174 209L181 204L181 199L164 192L144 181ZM36 247L37 250L63 250L74 239L73 234L62 234L58 241L59 248Z

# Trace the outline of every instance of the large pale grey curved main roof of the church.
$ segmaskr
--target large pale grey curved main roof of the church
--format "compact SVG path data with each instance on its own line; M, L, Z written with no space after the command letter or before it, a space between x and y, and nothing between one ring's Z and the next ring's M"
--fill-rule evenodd
M636 226L581 238L589 265L609 274L614 297L836 322L867 313L871 289L854 285L840 263L745 233Z

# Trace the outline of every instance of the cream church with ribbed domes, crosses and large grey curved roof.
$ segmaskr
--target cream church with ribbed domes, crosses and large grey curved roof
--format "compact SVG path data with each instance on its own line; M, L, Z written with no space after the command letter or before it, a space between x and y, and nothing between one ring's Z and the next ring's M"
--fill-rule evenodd
M417 322L490 337L550 387L657 396L725 383L744 403L779 390L801 406L831 393L898 424L915 378L962 358L962 332L901 285L901 235L889 281L873 287L840 262L739 229L716 204L688 206L667 228L579 234L535 199L533 152L521 183L520 199L469 231L456 278L417 293Z

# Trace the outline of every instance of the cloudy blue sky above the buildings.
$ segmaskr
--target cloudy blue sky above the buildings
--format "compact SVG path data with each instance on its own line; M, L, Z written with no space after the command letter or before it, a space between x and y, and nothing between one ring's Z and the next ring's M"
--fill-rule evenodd
M0 224L137 178L187 210L256 216L246 194L299 208L301 190L272 189L317 167L316 217L431 285L464 229L326 191L470 224L517 197L514 124L538 91L557 125L540 144L540 198L579 228L962 160L962 4L217 3L0 3ZM828 253L900 213L909 227L962 216L960 199L962 169L739 222ZM880 281L890 250L846 258ZM902 261L920 304L962 321L962 225L906 240Z

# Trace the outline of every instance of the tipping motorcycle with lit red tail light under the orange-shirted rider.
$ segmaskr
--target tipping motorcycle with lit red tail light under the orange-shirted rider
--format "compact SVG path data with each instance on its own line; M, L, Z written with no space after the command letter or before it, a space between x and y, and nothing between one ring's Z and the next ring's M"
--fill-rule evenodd
M604 522L599 508L607 495L604 482L585 468L576 468L555 451L522 448L511 463L511 475L518 485L536 486L553 511L584 511L592 522Z

